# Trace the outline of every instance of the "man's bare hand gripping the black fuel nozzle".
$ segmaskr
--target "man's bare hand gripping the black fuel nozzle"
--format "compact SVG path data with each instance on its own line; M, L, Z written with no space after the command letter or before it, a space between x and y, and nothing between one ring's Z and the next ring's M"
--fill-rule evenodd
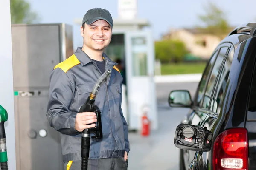
M76 114L76 122L75 129L78 132L82 132L84 129L89 129L91 127L95 127L95 123L97 121L96 113L94 112L82 112ZM93 123L93 124L91 124ZM87 125L91 124L91 125Z

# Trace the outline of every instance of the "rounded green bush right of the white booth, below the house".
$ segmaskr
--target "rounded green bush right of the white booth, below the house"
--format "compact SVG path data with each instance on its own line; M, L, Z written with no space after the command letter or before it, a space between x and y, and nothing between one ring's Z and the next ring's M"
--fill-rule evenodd
M183 42L179 40L162 40L155 42L155 56L162 63L180 62L188 53Z

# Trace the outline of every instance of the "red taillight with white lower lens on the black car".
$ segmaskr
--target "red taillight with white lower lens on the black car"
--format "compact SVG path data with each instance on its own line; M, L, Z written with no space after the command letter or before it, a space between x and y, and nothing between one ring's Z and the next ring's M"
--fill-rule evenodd
M222 132L214 142L213 170L248 170L247 130L234 128Z

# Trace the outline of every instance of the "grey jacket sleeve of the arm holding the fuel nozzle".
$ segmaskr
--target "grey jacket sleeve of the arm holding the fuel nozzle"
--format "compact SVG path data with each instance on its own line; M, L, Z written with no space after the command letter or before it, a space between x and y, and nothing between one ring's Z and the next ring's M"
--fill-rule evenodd
M49 101L47 105L47 119L55 130L76 135L76 113L69 110L73 101L75 87L60 68L56 68L50 75Z

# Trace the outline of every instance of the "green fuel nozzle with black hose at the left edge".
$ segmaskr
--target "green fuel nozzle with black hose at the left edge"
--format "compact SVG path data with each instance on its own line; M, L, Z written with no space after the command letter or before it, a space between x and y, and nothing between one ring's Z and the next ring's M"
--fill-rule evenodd
M7 111L0 105L0 167L1 170L8 170L6 135L4 130L4 122L8 119Z

